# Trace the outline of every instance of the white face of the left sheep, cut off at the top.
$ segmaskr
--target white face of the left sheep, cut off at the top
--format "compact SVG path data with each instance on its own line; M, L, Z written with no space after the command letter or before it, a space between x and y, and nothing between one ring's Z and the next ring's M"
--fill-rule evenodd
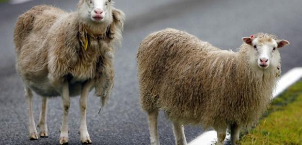
M111 3L111 0L80 0L78 9L82 17L95 23L102 23L112 17Z

